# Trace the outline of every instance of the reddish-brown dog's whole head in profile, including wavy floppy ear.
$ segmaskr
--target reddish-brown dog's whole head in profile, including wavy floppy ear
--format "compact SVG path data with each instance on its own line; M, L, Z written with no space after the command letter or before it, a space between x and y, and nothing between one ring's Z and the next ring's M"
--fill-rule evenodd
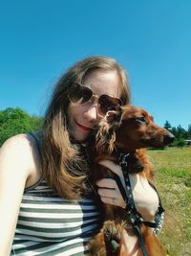
M161 128L144 109L122 106L120 111L108 111L100 122L96 135L98 150L135 151L143 148L161 148L175 139L167 129Z

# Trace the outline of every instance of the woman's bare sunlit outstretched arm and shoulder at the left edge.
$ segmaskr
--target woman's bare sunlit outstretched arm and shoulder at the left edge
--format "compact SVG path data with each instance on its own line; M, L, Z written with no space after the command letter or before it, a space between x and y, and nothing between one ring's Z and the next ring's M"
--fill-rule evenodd
M26 181L32 171L32 147L20 134L9 139L0 149L0 252L8 256L15 232Z

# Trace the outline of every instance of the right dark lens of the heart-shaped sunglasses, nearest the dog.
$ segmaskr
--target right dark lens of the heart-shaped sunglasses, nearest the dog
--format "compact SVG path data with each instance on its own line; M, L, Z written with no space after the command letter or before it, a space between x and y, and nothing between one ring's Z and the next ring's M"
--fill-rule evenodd
M101 95L98 99L100 114L105 115L109 110L117 110L121 101L109 95Z

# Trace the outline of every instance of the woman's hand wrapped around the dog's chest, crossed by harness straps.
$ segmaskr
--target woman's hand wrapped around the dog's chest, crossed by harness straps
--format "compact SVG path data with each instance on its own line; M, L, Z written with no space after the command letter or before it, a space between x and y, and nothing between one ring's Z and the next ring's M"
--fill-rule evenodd
M110 160L102 160L99 164L109 168L117 174L125 186L121 168ZM149 185L148 180L142 175L129 175L133 196L138 213L145 221L153 221L159 207L159 198L156 191ZM116 180L112 178L102 178L96 182L99 187L98 194L105 203L113 204L125 208L126 204L117 187Z

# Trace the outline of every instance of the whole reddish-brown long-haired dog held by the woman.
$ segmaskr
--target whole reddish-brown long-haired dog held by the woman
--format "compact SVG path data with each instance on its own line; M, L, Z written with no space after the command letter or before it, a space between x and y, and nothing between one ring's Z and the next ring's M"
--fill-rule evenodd
M117 151L129 153L128 172L145 175L153 180L154 172L146 155L146 148L161 148L170 144L174 135L165 128L160 128L153 122L145 110L138 106L125 105L119 111L109 111L98 126L96 133L96 150L91 146L91 159L95 162L93 180L113 177L115 175L106 167L98 165L101 159L110 159L118 163ZM132 224L128 221L126 211L120 207L103 204L104 223L100 232L91 242L92 255L130 255L121 246L121 232L126 229L132 231ZM153 229L140 225L143 241L149 256L164 256L164 250L159 243ZM111 248L117 244L115 250Z

